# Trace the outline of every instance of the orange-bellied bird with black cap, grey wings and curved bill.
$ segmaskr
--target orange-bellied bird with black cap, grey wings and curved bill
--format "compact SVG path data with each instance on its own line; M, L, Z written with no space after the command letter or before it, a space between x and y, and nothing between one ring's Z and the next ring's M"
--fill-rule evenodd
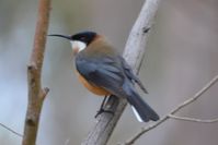
M134 84L147 94L145 86L105 36L92 31L48 36L70 41L78 77L90 92L99 96L125 98L139 122L159 120L158 113L141 98Z

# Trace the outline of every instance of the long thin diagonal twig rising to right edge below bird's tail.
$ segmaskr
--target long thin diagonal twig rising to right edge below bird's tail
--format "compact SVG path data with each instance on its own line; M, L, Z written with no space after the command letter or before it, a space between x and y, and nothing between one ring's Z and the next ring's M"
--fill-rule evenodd
M195 100L197 100L205 92L207 92L215 83L218 82L218 75L216 75L209 83L207 83L199 92L197 92L193 97L188 98L187 100L185 100L184 102L182 102L181 105L176 106L174 109L172 109L170 111L170 113L168 113L167 116L164 116L162 119L160 119L158 122L150 124L148 126L145 126L141 129L141 131L139 131L138 133L136 133L133 137L130 137L128 141L126 141L124 144L122 145L131 145L136 142L136 140L138 140L141 135L144 135L145 133L147 133L148 131L154 129L156 126L160 125L161 123L163 123L164 121L167 121L168 119L170 119L169 116L174 114L175 112L177 112L179 110L181 110L182 108L186 107L187 105L194 102Z

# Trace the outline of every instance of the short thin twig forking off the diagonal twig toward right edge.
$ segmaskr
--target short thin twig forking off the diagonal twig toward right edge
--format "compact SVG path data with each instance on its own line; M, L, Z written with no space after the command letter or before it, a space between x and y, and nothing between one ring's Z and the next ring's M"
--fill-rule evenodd
M216 123L216 122L218 122L218 118L203 120L203 119L196 119L196 118L177 117L174 114L168 114L168 117L171 119L175 119L175 120L197 122L197 123Z

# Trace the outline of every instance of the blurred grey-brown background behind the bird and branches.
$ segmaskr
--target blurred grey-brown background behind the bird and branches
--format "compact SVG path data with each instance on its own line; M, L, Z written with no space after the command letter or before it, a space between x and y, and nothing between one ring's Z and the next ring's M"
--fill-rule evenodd
M84 29L107 36L122 52L144 0L53 0L49 33L73 34ZM26 111L26 64L33 47L37 1L0 1L0 122L23 132ZM164 116L218 74L218 1L164 0L149 37L140 78L149 90L145 99ZM134 49L134 48L133 48ZM94 124L102 101L74 74L67 40L48 38L43 84L45 100L37 145L78 145ZM180 116L218 117L218 85ZM125 141L140 126L129 107L110 145ZM218 125L169 120L144 135L136 145L217 145ZM0 128L1 145L21 138Z

